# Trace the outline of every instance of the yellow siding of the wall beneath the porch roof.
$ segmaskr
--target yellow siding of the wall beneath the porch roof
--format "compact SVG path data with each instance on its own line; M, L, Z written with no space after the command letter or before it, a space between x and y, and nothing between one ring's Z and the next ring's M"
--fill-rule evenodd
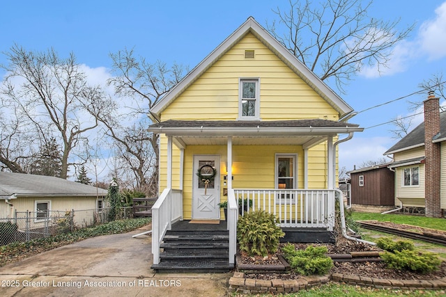
M226 200L223 195L224 176L226 175L226 145L188 145L184 156L184 183L183 183L183 216L192 218L192 178L197 178L193 172L193 156L198 154L220 155L220 199ZM296 154L298 171L298 188L304 187L304 154L300 145L234 145L233 146L233 188L275 188L275 155ZM173 162L176 163L176 162ZM310 167L310 166L309 166ZM326 177L320 177L319 172L326 168L320 164L309 170L309 188L325 188ZM166 166L160 168L162 175L167 174ZM178 172L173 170L173 172ZM173 175L172 186L180 186L179 173ZM161 179L161 188L167 186ZM222 216L223 217L223 216Z

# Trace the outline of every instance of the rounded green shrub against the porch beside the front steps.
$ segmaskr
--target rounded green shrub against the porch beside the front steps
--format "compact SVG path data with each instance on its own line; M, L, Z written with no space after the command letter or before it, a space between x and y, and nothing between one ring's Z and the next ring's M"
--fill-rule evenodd
M247 252L249 256L277 252L279 239L285 236L277 225L273 214L256 210L240 216L237 223L237 239L240 250Z

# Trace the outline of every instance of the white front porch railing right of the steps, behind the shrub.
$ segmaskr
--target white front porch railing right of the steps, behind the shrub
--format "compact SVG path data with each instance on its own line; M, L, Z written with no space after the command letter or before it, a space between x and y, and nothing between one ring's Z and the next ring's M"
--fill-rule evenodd
M255 209L274 214L281 227L334 227L336 190L234 189L243 212Z

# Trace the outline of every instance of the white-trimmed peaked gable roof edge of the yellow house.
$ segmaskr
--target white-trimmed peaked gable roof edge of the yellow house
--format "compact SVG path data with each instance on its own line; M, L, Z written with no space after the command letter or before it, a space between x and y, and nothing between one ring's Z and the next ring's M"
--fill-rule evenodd
M311 86L318 95L323 97L334 110L339 113L339 118L343 118L353 111L351 106L346 104L341 97L329 88L321 79L316 77L307 66L298 60L291 52L278 42L268 31L266 31L253 17L249 17L236 31L234 31L222 44L204 58L197 67L189 72L179 83L164 95L150 113L153 117L160 121L160 113L171 104L183 91L196 81L203 72L206 72L215 62L217 62L229 49L236 45L247 33L252 33L258 38L263 45L268 47L270 51L276 54L288 67L298 76Z

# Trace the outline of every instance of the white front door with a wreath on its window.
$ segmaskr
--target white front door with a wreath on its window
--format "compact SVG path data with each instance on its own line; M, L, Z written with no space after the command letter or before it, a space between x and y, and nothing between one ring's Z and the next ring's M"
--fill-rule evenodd
M220 156L194 156L193 175L192 218L220 218Z

